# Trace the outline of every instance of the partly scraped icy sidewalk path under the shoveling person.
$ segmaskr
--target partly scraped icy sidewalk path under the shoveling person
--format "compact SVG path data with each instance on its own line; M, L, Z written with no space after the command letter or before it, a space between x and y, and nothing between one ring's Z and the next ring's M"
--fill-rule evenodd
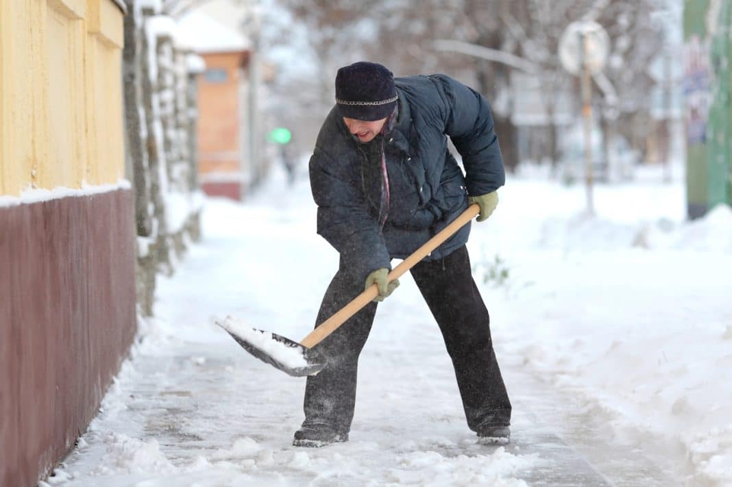
M305 381L248 355L212 318L233 313L292 339L310 331L337 255L298 201L209 204L203 242L161 280L157 319L142 324L133 360L51 483L673 485L609 444L601 418L502 353L501 323L492 328L515 407L513 441L477 445L438 328L408 277L380 306L362 353L351 440L292 447Z

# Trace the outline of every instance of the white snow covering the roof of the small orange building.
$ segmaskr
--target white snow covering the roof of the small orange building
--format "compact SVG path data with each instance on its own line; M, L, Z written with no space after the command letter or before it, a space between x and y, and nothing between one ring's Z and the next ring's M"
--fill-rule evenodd
M178 23L178 39L197 53L231 53L248 50L252 43L202 12L190 12Z

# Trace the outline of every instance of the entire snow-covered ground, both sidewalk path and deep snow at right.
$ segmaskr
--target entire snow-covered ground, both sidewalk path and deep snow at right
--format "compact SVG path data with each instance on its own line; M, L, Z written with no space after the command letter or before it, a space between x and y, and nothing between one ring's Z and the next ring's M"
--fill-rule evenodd
M682 223L681 184L509 180L469 247L515 408L507 448L475 443L408 276L359 365L351 441L291 447L305 381L215 317L302 339L337 254L307 181L209 200L203 241L161 279L157 318L49 479L67 486L724 485L732 481L732 212ZM485 281L485 282L484 282Z

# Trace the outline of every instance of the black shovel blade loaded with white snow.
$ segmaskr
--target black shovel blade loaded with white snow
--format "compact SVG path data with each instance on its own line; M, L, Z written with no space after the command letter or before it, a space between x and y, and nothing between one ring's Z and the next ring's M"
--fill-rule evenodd
M318 352L277 333L252 328L230 316L223 323L216 324L227 331L244 350L291 376L317 374L327 365Z

